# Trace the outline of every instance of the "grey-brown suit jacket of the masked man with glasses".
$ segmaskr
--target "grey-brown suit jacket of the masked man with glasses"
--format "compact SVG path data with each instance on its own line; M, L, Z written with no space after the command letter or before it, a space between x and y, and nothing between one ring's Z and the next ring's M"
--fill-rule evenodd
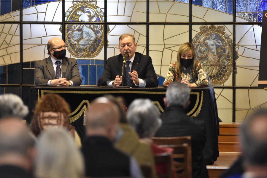
M64 57L61 64L62 78L71 80L74 86L80 86L82 78L80 76L77 60ZM46 85L49 80L55 79L55 70L52 60L49 57L35 62L35 84Z

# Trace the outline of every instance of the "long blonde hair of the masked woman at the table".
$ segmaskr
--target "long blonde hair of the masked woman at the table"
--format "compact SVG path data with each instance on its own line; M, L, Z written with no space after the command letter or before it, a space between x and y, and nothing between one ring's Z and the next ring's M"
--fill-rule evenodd
M182 73L182 65L181 65L181 54L185 54L186 52L188 51L192 51L192 54L193 54L193 76L196 77L196 68L198 67L198 62L199 60L197 59L196 57L196 51L195 51L195 47L193 46L192 43L183 43L179 50L178 50L178 53L177 53L177 64L176 64L176 67L175 67L175 71L178 73L178 76L181 75Z

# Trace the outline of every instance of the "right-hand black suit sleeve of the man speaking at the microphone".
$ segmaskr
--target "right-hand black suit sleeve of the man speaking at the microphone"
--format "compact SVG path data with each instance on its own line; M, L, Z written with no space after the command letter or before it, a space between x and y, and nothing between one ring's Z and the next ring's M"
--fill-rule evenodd
M145 87L157 87L158 86L158 78L157 78L156 72L154 70L154 67L152 64L152 59L150 56L148 56L145 71L146 71L145 78L142 78L147 83Z

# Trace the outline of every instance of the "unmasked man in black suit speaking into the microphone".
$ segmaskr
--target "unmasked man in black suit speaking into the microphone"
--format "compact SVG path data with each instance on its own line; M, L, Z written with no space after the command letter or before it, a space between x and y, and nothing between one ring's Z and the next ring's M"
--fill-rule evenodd
M98 80L99 86L120 86L122 82L130 87L157 87L158 78L152 65L151 57L135 52L137 43L131 34L123 34L119 38L120 53L107 60L104 72ZM129 57L122 76L123 58ZM128 64L129 63L129 64ZM127 72L127 68L129 71ZM129 74L129 76L127 76Z

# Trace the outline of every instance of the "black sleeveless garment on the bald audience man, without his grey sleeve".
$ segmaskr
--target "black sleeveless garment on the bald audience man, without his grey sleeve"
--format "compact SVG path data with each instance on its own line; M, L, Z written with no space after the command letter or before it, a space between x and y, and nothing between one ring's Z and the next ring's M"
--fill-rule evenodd
M130 157L103 136L90 136L82 146L86 177L130 176Z

